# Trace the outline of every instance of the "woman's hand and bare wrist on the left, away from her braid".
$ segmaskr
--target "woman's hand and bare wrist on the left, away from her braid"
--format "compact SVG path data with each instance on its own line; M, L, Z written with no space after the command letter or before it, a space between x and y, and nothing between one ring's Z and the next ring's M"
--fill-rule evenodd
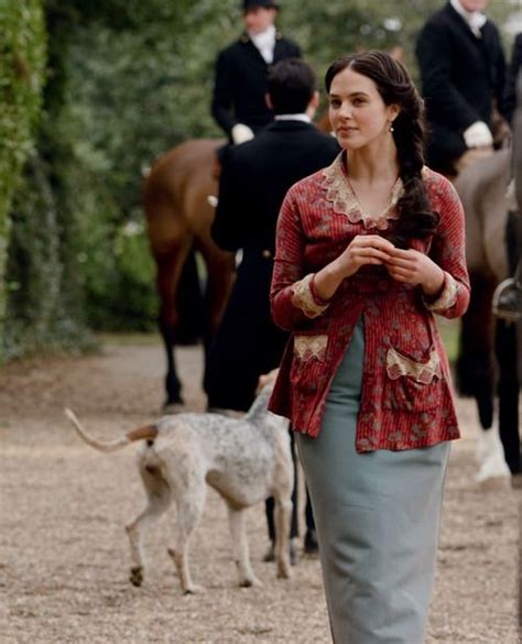
M328 301L346 277L365 264L387 264L394 245L379 234L358 234L340 255L322 269L314 277L317 295Z

